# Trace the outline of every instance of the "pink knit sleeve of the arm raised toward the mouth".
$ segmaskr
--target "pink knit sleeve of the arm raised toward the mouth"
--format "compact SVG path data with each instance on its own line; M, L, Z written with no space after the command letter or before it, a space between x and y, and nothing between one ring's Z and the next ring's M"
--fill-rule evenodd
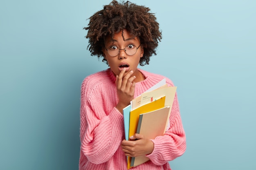
M99 164L108 161L120 146L124 122L115 107L108 113L104 95L94 85L85 79L81 87L80 139L83 154Z

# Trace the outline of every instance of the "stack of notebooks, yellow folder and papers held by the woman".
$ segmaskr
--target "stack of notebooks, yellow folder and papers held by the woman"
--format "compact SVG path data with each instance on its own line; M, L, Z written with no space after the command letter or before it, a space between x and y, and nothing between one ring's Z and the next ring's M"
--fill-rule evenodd
M169 126L169 117L177 87L168 87L166 79L142 93L123 109L125 138L139 133L148 139L164 135ZM146 156L127 157L130 169L148 161Z

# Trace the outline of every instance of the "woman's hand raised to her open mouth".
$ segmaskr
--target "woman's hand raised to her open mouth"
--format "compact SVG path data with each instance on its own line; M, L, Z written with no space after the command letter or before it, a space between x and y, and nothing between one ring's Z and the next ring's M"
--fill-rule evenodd
M123 108L130 104L130 101L134 98L135 89L135 76L131 76L133 71L128 72L125 76L125 68L117 75L116 86L117 86L117 97L119 99L116 106L117 110L123 114Z

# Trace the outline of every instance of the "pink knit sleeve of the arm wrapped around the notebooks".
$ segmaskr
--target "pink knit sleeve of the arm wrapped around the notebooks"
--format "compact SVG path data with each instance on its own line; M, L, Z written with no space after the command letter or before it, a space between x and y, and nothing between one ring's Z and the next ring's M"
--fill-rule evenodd
M167 83L169 86L173 86L171 81ZM180 157L186 150L186 136L180 117L177 94L174 97L169 121L170 128L163 136L152 140L154 150L150 155L146 155L156 165L163 165L167 161Z

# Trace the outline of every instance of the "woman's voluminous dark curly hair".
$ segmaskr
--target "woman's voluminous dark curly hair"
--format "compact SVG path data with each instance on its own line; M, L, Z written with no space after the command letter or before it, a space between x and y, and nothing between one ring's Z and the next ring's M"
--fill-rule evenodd
M131 35L139 38L144 48L144 55L140 58L139 64L149 64L150 57L156 55L158 42L162 39L162 31L159 30L159 23L156 21L155 13L150 9L139 6L129 1L117 2L113 0L105 5L101 11L94 13L89 19L88 30L85 38L89 39L89 51L91 55L103 57L102 49L107 36L114 37L115 33L127 29ZM106 59L103 57L103 62ZM106 62L107 63L107 62Z

